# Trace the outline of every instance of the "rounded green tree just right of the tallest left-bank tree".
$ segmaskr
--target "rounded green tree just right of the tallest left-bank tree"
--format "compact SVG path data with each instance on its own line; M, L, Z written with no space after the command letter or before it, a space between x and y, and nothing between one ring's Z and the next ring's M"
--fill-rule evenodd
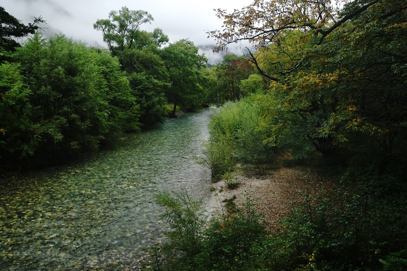
M193 42L182 39L162 50L162 58L170 76L171 87L167 90L168 101L174 103L171 117L176 117L178 104L185 108L202 105L205 80L199 69L205 66L207 59L198 54L198 47Z

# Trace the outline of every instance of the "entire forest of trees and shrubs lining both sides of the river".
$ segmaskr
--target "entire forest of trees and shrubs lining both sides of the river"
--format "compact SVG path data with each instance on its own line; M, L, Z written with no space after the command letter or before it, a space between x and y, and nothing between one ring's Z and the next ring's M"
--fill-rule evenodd
M145 11L123 7L94 24L109 52L63 34L43 39L36 22L0 12L3 161L95 150L177 108L212 104L210 139L196 159L214 180L238 164L264 174L289 154L335 183L303 191L275 232L249 196L207 219L187 194L158 193L173 231L151 248L146 269L407 270L406 1L254 0L220 9L224 28L208 32L214 51L244 40L253 47L211 67L191 41L168 44L162 30L141 30L152 20Z

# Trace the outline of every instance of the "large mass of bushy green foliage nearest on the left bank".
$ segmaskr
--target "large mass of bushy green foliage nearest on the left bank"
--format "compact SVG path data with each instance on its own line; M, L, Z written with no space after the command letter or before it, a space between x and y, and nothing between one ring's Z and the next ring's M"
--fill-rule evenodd
M2 116L15 111L3 122L10 132L3 137L3 155L62 158L95 150L116 132L140 129L129 82L110 55L64 35L45 40L37 33L13 60L20 64L2 65L8 104Z

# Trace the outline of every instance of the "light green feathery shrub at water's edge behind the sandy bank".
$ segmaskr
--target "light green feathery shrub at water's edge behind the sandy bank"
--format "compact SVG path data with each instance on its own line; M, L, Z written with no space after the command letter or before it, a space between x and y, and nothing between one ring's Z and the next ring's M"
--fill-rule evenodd
M262 129L258 110L250 98L245 98L226 103L211 117L211 137L204 146L202 161L209 165L213 176L232 171L237 162L262 174L265 164L272 161L272 147L265 141L268 131Z

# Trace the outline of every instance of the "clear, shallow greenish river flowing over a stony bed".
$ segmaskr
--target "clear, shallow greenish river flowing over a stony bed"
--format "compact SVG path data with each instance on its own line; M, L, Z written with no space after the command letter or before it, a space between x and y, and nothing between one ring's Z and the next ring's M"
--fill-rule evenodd
M151 232L166 228L154 191L209 200L210 171L192 158L209 136L210 114L182 114L125 135L114 150L1 187L0 270L103 270L137 258Z

